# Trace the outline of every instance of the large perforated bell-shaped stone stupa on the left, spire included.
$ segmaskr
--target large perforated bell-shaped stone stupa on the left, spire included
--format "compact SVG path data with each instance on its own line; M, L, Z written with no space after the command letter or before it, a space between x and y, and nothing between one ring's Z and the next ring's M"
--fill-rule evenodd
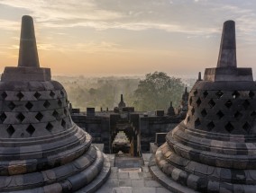
M93 192L105 181L109 162L68 103L40 67L32 17L23 16L18 67L5 67L0 82L0 192Z

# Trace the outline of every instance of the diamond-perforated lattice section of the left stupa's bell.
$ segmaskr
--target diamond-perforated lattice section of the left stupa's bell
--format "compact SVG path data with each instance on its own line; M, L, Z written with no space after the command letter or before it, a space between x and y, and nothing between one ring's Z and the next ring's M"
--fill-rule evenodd
M55 82L32 83L25 91L0 83L0 132L4 138L40 137L72 126L67 93ZM6 88L7 87L7 88Z

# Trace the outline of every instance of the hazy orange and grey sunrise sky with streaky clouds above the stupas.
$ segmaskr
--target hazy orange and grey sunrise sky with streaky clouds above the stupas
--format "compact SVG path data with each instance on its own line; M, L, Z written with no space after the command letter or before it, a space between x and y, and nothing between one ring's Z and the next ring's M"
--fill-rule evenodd
M52 75L197 76L216 66L226 20L238 66L256 72L255 0L0 0L1 72L17 66L24 14Z

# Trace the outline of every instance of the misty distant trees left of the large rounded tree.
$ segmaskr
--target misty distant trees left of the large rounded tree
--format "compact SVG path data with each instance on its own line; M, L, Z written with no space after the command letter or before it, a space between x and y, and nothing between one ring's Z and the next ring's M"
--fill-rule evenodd
M139 78L136 77L55 77L65 87L73 108L85 111L87 107L96 110L108 108L113 110L118 106L120 94L123 93L127 105L133 103L133 92L136 90Z

